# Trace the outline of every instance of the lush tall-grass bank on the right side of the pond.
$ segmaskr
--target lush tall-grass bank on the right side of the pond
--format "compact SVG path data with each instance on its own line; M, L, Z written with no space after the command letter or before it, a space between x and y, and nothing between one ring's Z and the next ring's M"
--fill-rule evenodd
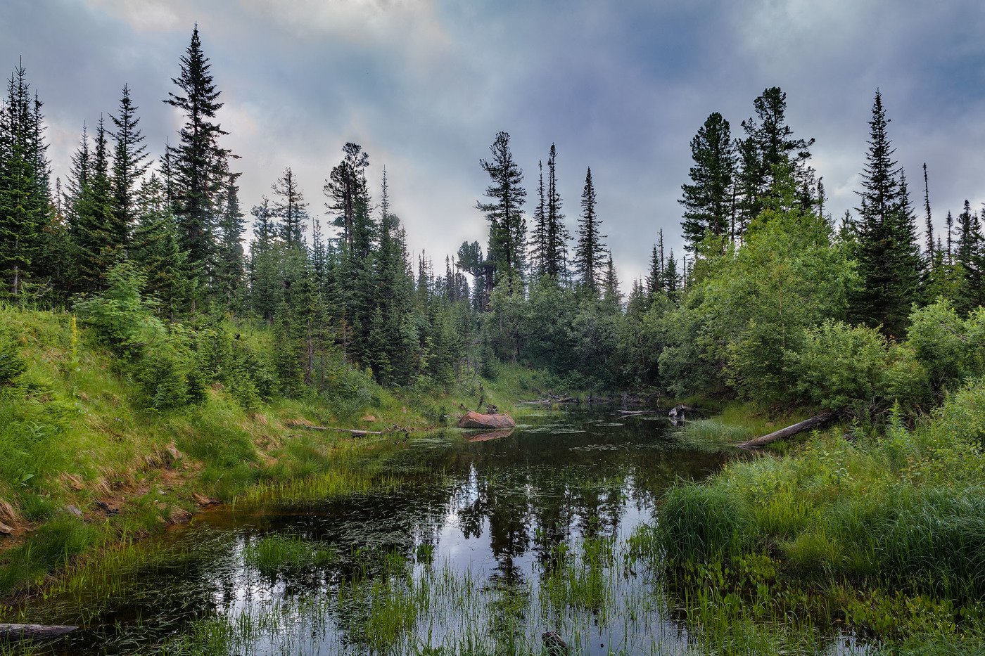
M785 456L736 462L673 489L653 550L680 580L710 591L707 603L731 595L755 609L762 597L897 646L978 646L983 440L978 380L912 428L898 412L879 435L832 428Z

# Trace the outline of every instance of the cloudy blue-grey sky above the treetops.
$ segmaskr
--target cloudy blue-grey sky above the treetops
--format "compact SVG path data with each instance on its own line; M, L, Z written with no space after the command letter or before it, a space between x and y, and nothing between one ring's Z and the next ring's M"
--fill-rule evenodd
M585 170L627 290L658 230L681 252L689 141L721 112L742 134L763 89L787 93L835 217L857 205L879 89L889 137L935 222L985 201L985 9L976 0L3 0L0 67L23 60L65 176L83 122L129 85L149 150L181 122L162 101L198 24L241 159L244 208L294 168L312 215L347 141L387 170L414 251L484 245L479 161L511 135L528 200L558 148L574 231ZM528 211L532 204L528 203ZM324 219L323 219L324 220ZM919 222L923 226L923 222Z

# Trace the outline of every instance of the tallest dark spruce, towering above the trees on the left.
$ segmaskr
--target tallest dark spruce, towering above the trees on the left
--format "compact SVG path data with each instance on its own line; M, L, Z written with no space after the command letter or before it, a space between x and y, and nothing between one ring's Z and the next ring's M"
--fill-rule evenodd
M181 247L188 252L189 264L203 287L215 264L216 201L226 182L222 165L230 157L230 152L219 145L219 138L229 133L216 121L223 103L211 68L196 25L181 57L180 75L171 80L178 93L168 93L164 100L184 116L178 145L168 147L173 164L172 193Z

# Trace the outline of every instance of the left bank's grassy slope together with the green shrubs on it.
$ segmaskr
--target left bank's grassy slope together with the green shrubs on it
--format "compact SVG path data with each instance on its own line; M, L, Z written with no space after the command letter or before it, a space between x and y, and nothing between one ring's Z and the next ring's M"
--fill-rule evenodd
M0 307L0 598L215 500L353 468L372 485L377 446L541 385L501 366L395 392L341 358L305 381L263 322L164 324L119 284L77 309Z

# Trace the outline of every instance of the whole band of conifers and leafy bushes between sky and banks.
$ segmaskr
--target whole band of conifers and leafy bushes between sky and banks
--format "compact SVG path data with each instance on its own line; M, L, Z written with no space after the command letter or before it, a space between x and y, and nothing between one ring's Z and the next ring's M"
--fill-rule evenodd
M340 366L383 385L441 387L515 361L569 387L817 403L822 346L841 340L845 353L859 356L864 346L879 361L869 373L855 371L852 403L866 394L877 405L898 398L890 370L900 385L909 381L911 395L924 385L924 402L946 385L911 343L914 326L947 324L973 344L982 321L980 215L966 202L939 236L924 166L918 237L878 92L858 207L839 222L825 212L814 140L795 136L780 89L755 98L738 137L711 113L690 142L680 199L685 251L665 250L663 231L654 234L648 274L624 295L592 170L569 228L553 144L528 198L509 134L495 135L479 163L490 181L476 204L489 238L485 248L463 243L441 272L424 253L410 254L387 172L373 193L369 155L355 143L345 144L321 190L329 225L288 167L249 210L248 226L238 158L225 146L221 92L197 28L173 82L164 101L183 122L156 165L124 86L116 111L92 131L83 127L63 185L51 180L43 104L24 67L14 71L0 109L0 295L104 319L121 320L106 302L141 307L169 339L179 339L175 326L198 330L190 351L201 361L223 322L265 324L269 353L229 355L244 348L230 329L228 355L209 365L216 377L216 362L226 362L230 385L249 378L244 398L258 389L324 390L339 384ZM921 318L928 312L938 323ZM156 366L184 371L189 389L202 377L187 365Z

